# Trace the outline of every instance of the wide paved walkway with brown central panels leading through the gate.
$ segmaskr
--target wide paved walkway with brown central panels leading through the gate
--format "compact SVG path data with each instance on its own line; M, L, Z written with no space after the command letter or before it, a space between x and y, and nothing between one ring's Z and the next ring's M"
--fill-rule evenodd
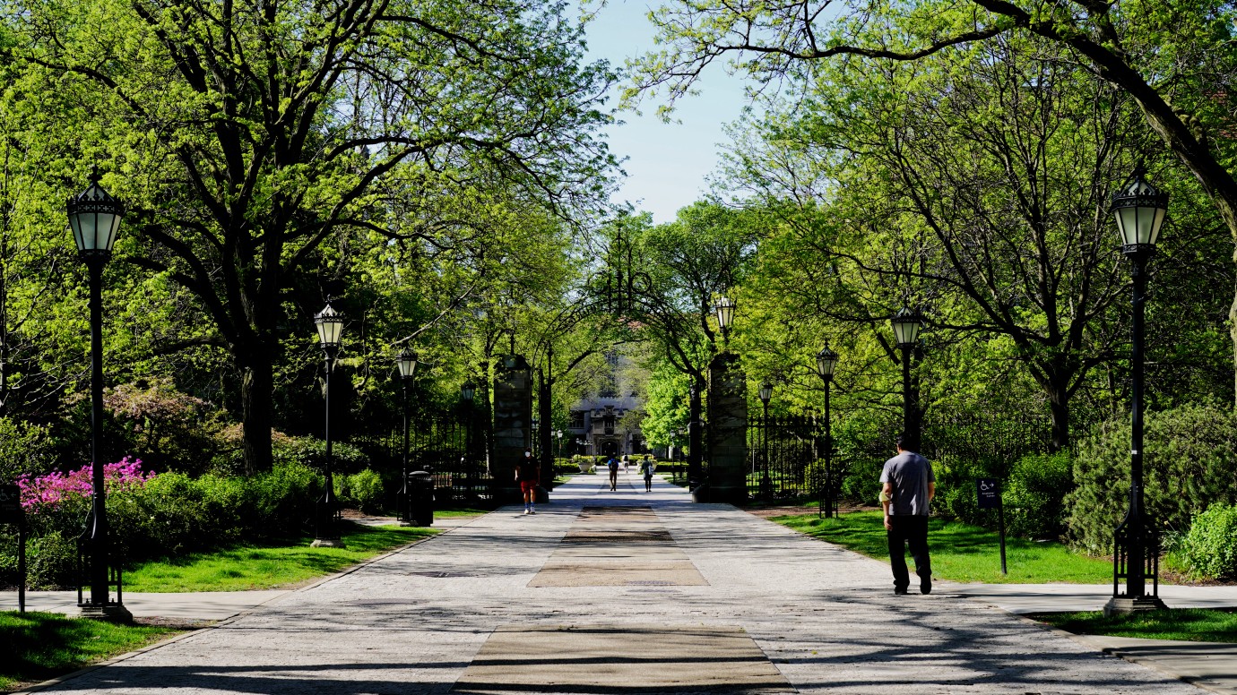
M884 564L669 484L607 487L578 476L536 516L500 510L51 691L1201 693L951 585L894 597Z

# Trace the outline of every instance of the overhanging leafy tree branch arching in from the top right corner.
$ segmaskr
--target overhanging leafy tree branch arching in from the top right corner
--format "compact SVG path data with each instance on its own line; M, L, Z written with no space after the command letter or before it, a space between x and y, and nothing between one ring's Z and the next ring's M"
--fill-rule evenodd
M638 62L628 96L656 89L680 96L721 57L732 57L758 88L776 88L824 61L918 61L951 46L1029 32L1132 96L1237 240L1235 12L1228 0L673 2L654 10L667 48ZM1230 335L1237 364L1237 294Z

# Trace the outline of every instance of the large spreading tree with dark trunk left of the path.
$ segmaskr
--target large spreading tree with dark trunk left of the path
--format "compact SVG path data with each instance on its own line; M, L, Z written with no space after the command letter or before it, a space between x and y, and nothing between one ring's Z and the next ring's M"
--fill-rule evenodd
M340 229L426 235L422 185L470 162L559 210L591 204L610 164L594 139L610 75L581 66L581 27L554 2L16 0L5 15L27 93L63 95L43 136L69 126L82 161L115 160L127 258L193 292L214 328L198 341L230 351L250 470L271 463L285 293Z

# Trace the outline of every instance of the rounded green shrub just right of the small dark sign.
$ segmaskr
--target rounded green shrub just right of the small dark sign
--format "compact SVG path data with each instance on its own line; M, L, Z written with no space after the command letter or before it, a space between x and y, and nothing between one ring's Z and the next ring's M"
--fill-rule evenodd
M1059 537L1065 528L1065 496L1072 488L1074 464L1068 451L1023 456L1001 491L1006 529L1024 538Z

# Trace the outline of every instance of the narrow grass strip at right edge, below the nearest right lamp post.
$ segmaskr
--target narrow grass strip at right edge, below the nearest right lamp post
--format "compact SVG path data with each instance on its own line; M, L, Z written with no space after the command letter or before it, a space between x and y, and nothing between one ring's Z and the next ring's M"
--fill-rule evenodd
M1105 617L1100 611L1038 613L1039 622L1075 634L1107 634L1183 642L1237 642L1237 612L1211 608L1168 608Z

